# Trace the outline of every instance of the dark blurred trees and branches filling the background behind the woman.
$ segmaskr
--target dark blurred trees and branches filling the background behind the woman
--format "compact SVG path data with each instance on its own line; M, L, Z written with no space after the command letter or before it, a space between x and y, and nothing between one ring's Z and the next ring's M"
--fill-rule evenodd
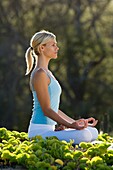
M56 34L59 57L50 69L62 86L60 108L77 119L94 116L113 130L113 1L1 0L0 126L27 131L32 114L25 51L41 30Z

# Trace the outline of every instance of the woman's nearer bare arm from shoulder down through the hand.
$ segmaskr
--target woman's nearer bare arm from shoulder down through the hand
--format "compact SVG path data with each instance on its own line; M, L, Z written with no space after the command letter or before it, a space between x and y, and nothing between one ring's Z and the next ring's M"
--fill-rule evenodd
M34 89L37 93L37 97L41 105L42 111L44 112L45 116L53 119L54 121L68 128L83 129L88 126L87 120L85 119L81 119L78 121L70 121L69 119L66 118L66 116L64 118L63 116L60 115L60 114L63 115L62 112L58 114L51 109L50 97L48 92L48 84L50 83L50 80L42 69L35 72L32 82Z

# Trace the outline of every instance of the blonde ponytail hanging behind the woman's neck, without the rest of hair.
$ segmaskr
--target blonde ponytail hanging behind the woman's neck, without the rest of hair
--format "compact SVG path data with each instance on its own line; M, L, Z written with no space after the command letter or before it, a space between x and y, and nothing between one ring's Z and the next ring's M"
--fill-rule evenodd
M26 64L27 64L27 69L26 69L25 75L28 75L33 68L34 57L33 57L32 53L33 53L33 49L32 49L32 47L29 47L25 53L25 59L26 59Z

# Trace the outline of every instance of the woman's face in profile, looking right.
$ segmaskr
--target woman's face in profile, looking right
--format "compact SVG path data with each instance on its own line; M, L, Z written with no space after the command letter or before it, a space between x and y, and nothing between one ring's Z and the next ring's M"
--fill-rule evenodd
M46 44L42 45L43 54L49 59L56 59L58 53L58 46L55 39L50 39Z

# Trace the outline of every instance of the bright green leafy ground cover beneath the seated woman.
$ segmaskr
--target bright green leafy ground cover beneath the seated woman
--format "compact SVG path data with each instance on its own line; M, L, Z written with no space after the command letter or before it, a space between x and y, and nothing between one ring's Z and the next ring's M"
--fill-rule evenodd
M7 134L7 139L4 134ZM101 137L101 138L100 138ZM27 138L27 133L0 128L0 164L29 170L113 170L113 137L99 135L94 143ZM102 140L101 140L102 139ZM105 141L103 141L103 139ZM111 139L111 140L109 140Z

